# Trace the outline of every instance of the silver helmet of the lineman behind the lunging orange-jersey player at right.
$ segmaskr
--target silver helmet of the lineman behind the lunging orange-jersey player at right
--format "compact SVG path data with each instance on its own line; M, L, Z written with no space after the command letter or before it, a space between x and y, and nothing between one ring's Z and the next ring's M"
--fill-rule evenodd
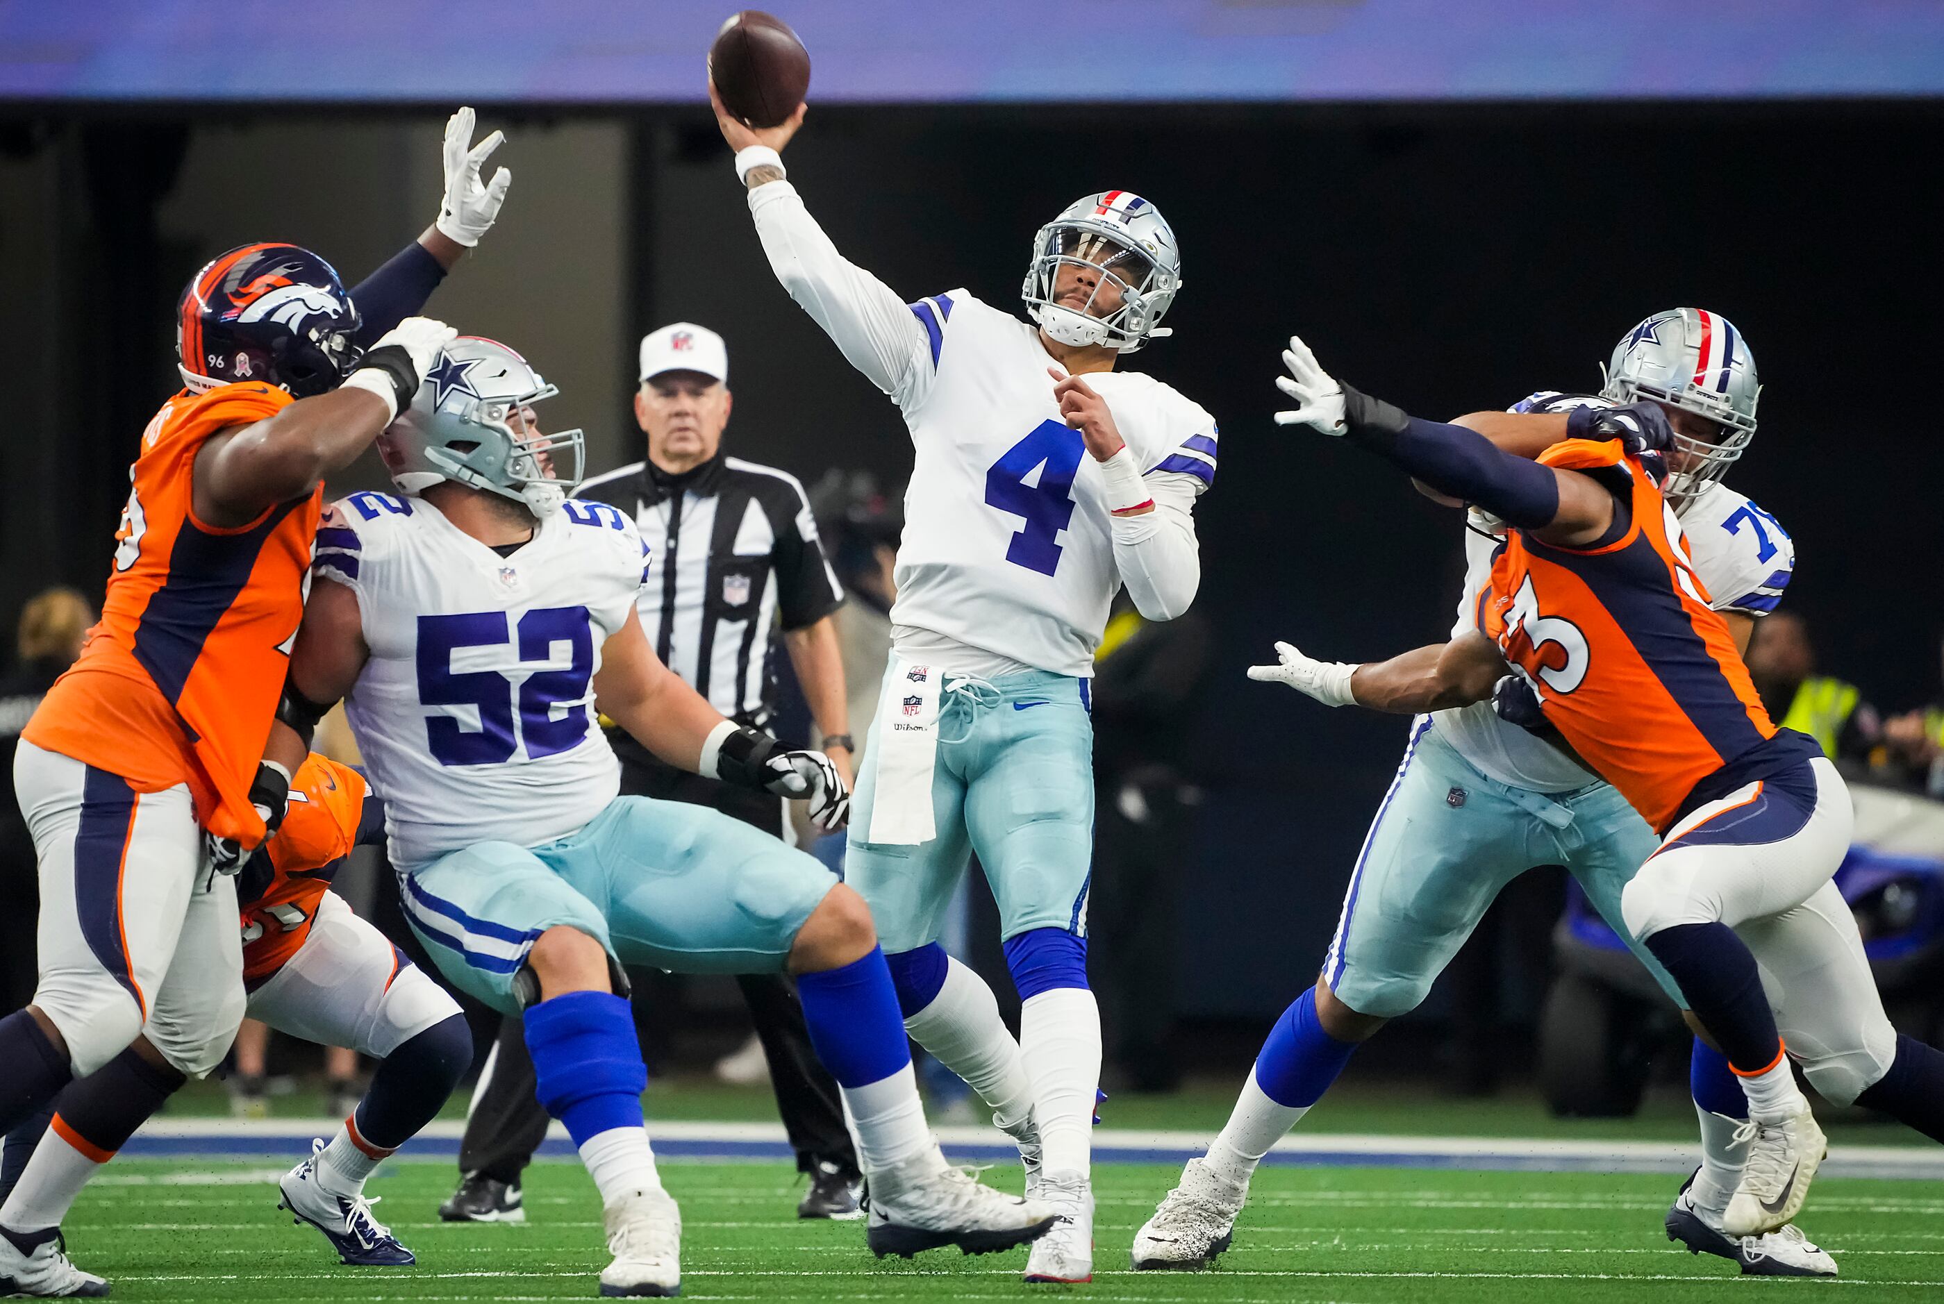
M1699 307L1654 313L1614 346L1600 393L1615 402L1654 398L1720 428L1717 443L1674 435L1678 457L1668 463L1668 503L1676 511L1728 474L1755 437L1761 396L1755 356L1720 313Z

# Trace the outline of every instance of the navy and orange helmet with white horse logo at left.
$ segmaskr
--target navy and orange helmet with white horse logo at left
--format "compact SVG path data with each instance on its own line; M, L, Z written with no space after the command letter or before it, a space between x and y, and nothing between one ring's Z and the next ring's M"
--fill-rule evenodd
M358 307L336 268L295 245L241 245L210 260L175 311L183 385L268 381L297 398L336 389L358 360Z

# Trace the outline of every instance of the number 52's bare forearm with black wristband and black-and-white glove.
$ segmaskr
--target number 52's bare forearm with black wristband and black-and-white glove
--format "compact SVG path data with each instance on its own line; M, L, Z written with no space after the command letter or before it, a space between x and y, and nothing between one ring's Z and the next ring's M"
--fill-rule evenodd
M595 707L661 760L723 783L780 797L807 799L811 822L844 828L850 785L822 752L787 752L770 735L723 719L675 670L665 667L630 610L626 624L601 645Z

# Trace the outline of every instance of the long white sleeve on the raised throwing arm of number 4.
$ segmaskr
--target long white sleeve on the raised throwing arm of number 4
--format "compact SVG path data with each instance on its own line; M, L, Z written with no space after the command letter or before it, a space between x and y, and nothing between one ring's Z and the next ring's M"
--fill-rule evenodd
M931 385L937 361L916 311L890 286L838 253L787 181L750 190L748 210L770 268L789 297L873 385L900 408L916 406Z

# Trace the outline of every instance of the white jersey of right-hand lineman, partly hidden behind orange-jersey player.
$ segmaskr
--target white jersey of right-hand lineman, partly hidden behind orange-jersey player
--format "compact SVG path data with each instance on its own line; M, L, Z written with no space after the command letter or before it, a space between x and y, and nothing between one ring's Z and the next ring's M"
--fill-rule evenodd
M1575 402L1571 396L1542 393L1514 412L1542 404L1557 412ZM1695 573L1709 593L1709 606L1748 616L1767 616L1775 610L1796 566L1796 546L1775 517L1752 503L1748 496L1726 484L1715 484L1687 503L1680 525ZM1466 531L1464 593L1458 595L1452 637L1477 628L1477 602L1491 581L1491 562L1497 550L1495 538L1474 529ZM1499 719L1491 702L1439 711L1433 721L1460 756L1501 783L1532 793L1565 793L1598 783L1598 775L1559 748Z

